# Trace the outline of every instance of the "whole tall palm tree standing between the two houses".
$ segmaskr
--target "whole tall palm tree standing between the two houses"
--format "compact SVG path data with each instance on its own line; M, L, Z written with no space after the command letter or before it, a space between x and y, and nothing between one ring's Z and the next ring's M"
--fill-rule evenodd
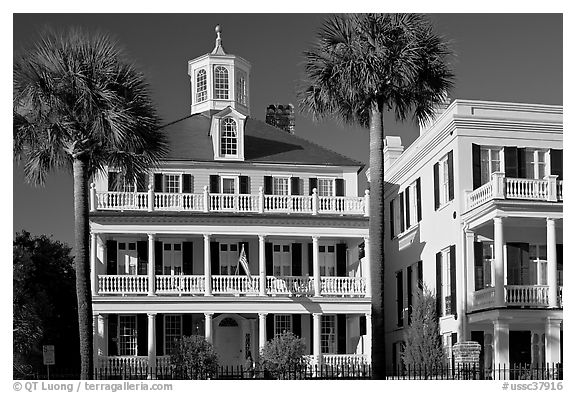
M300 107L370 129L370 272L373 378L385 377L384 118L426 122L452 87L448 43L416 14L331 16L304 53Z

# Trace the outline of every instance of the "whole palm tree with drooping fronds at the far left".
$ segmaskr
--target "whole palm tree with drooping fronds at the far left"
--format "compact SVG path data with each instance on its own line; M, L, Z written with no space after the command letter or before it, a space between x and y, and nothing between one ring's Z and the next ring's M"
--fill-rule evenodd
M46 31L14 60L14 155L26 180L72 170L82 379L93 372L88 184L106 166L134 181L166 151L143 75L110 36Z

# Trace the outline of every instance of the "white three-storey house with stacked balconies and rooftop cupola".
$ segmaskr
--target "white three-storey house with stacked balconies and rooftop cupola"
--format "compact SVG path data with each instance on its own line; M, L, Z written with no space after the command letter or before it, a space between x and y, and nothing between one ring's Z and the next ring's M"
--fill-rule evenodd
M114 168L94 179L95 364L162 365L199 334L240 365L283 331L315 361L369 362L363 165L252 118L250 63L217 32L188 62L191 115L165 126L161 166L119 188Z

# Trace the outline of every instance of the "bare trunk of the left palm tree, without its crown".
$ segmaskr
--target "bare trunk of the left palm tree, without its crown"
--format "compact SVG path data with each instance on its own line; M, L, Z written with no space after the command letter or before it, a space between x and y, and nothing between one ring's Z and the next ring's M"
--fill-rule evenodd
M88 239L88 160L74 158L74 258L76 267L76 297L78 299L78 328L80 333L80 379L92 379L92 298L90 293L90 251Z

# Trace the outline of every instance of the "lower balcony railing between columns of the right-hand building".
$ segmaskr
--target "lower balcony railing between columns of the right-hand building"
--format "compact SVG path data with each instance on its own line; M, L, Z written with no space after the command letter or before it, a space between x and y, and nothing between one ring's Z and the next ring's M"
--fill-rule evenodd
M505 285L505 307L535 307L550 306L549 288L547 285ZM558 287L558 306L562 308L562 287ZM495 288L485 288L474 292L472 310L484 310L496 307Z

